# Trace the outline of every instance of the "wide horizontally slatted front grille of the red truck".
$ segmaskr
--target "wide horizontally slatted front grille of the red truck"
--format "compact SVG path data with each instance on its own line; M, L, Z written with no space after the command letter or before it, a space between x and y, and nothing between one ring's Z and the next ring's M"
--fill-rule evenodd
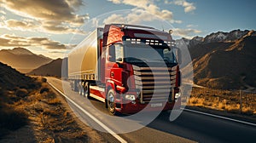
M141 103L172 101L172 89L176 84L177 66L133 66L133 70Z

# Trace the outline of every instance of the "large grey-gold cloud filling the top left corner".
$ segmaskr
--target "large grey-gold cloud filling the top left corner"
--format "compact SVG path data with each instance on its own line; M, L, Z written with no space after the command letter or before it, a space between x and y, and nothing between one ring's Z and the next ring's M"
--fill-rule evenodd
M80 0L74 2L65 0L45 1L45 0L2 0L3 7L22 17L36 20L60 20L71 23L83 24L83 17L74 14L75 8L81 3ZM69 5L70 4L70 5Z

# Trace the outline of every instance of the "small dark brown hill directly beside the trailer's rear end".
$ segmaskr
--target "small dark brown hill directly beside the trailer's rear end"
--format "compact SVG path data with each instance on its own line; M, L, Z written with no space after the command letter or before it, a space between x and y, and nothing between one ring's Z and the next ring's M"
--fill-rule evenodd
M29 75L38 75L38 76L55 76L61 77L61 66L62 66L62 59L52 60L48 64L43 66L39 66L38 68L32 70L27 74Z

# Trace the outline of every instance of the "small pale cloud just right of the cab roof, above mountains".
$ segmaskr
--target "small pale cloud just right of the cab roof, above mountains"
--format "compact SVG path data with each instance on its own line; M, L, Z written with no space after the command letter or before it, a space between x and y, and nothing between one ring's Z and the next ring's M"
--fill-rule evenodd
M180 29L180 28L175 28L173 29L173 36L177 37L186 37L191 39L192 37L195 37L196 34L201 33L201 31L196 30L196 29Z

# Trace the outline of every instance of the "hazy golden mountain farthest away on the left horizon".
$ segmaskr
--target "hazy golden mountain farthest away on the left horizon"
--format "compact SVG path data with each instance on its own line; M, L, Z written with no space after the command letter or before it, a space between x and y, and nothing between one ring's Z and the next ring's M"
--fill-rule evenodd
M47 64L51 60L42 54L33 54L24 48L0 50L0 61L23 73L30 72L32 69Z

